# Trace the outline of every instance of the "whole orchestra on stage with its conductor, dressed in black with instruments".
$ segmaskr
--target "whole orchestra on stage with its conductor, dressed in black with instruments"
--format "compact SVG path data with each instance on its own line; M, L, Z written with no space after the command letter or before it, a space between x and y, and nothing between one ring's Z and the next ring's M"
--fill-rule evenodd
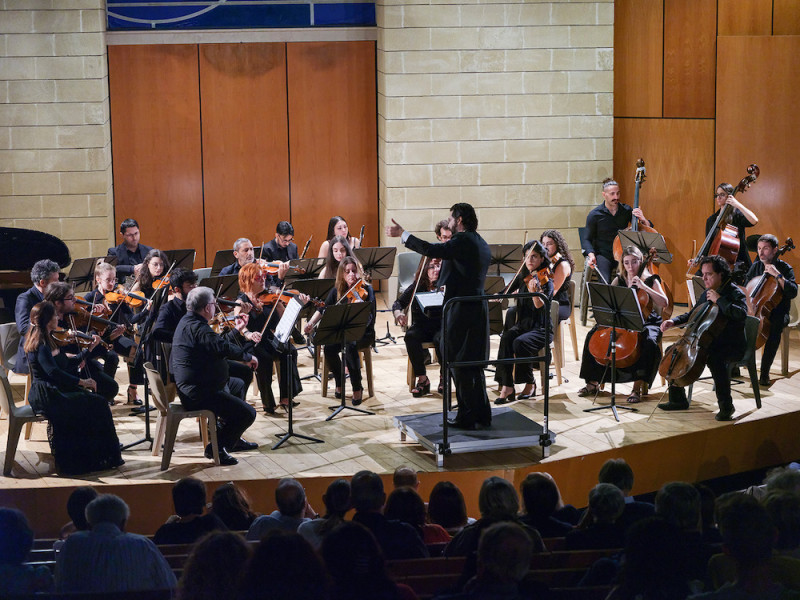
M763 346L758 383L770 385L770 368L797 295L794 272L780 258L793 245L787 240L781 246L776 236L761 235L757 259L751 261L746 229L757 224L758 217L736 197L755 181L758 168L751 165L748 173L739 186L716 187L718 210L709 216L706 241L687 272L690 284L702 281L703 291L696 299L690 292L690 310L676 317L672 292L658 273L656 250L623 246L618 235L622 230L658 234L638 206L638 170L634 206L622 202L616 181L603 182L602 202L588 213L581 239L587 265L584 279L633 298L641 330L598 324L589 331L581 358L582 387L576 385L574 390L579 396L596 397L613 377L617 383L632 383L627 402L635 404L660 373L668 390L658 408L685 410L689 407L685 388L707 367L719 404L716 419L731 420L731 365L752 343L745 336L748 316L758 319L755 344ZM479 362L489 356L488 303L463 300L448 310L442 307L453 298L485 297L490 246L479 233L471 205L455 204L449 215L442 216L435 243L410 234L394 220L385 228L387 237L400 238L402 245L421 256L413 282L399 290L391 306L394 322L404 330L409 372L413 371L409 393L415 398L430 395L432 389L444 392L448 374L443 363ZM153 363L165 383L174 382L187 409L210 409L217 415L220 462L236 464L233 453L258 447L242 437L257 416L246 401L250 385L255 382L261 409L270 417L287 412L290 403L296 406L303 385L295 344L316 346L326 311L336 312L332 306L370 305L366 327L357 340L323 341L320 352L335 380L336 397L349 396L353 406L367 400L359 352L376 342L378 313L373 287L354 253L363 246L363 228L360 236L353 236L344 218L330 219L317 254L319 278L330 282L329 291L320 298L287 283L287 274L304 258L309 244L300 253L294 228L286 221L277 224L274 239L260 248L243 237L233 243L235 260L220 271L220 276L238 277L239 292L233 298L218 296L217 290L198 281L195 272L170 264L164 251L140 243L134 219L123 221L120 233L122 243L108 251L115 260L98 261L94 268L92 291L77 295L59 281L57 263L40 260L31 270L33 286L17 299L21 339L15 370L31 375L29 402L48 420L48 439L60 472L108 469L124 462L109 408L119 392L115 376L121 362L128 370L126 396L133 410L141 410L138 386L145 381L144 364ZM522 246L519 269L506 277L503 289L504 294L521 297L506 310L497 358L531 358L531 362L496 365L499 394L494 404L541 397L533 359L553 341L550 302L558 302L559 321L572 314L574 251L555 229ZM437 294L438 303L420 302ZM300 308L305 325L290 307ZM285 313L296 319L290 322L289 342L278 333ZM662 334L676 327L682 329L678 341L663 348ZM429 366L434 356L439 365L435 378ZM342 380L345 366L349 383ZM271 386L273 370L278 372L277 399ZM484 367L459 366L450 375L458 408L450 426L491 427ZM206 456L212 456L210 447Z

